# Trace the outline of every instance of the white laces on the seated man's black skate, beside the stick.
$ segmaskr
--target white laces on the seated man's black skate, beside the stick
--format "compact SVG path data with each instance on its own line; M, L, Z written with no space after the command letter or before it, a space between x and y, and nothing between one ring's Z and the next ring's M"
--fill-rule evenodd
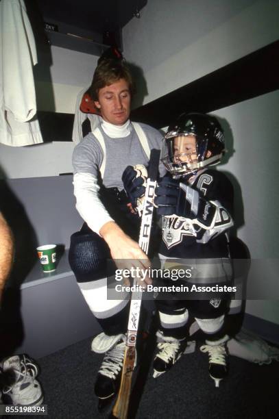
M101 364L99 373L115 379L115 374L117 374L123 366L124 352L125 342L121 342L110 349L104 356L104 361Z

